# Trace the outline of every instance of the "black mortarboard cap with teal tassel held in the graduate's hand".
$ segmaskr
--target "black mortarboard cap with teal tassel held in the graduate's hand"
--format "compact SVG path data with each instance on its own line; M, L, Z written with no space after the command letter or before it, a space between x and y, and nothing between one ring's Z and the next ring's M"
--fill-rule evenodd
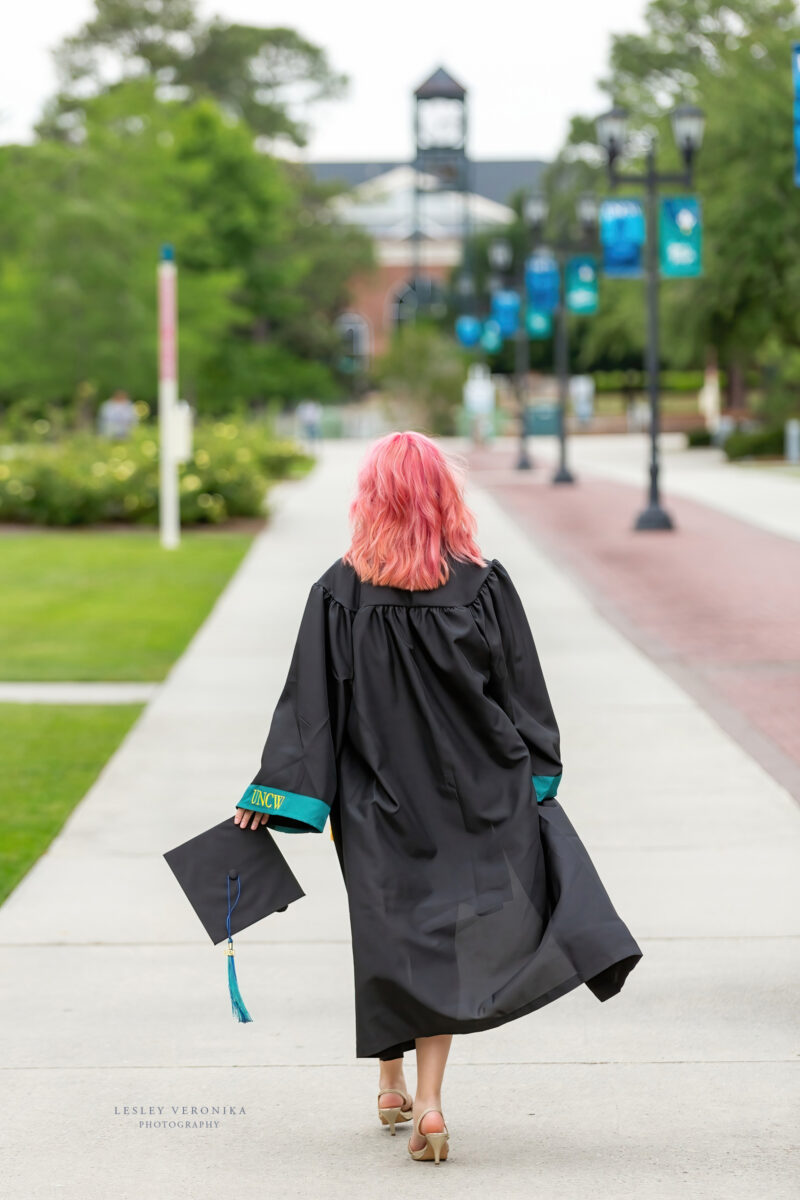
M233 935L283 912L306 893L269 829L242 829L233 817L168 850L164 858L213 944L228 938L234 1016L252 1020L239 994Z

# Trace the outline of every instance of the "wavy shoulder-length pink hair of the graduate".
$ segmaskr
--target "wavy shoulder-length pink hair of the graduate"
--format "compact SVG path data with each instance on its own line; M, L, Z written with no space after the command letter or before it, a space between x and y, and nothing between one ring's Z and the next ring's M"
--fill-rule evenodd
M447 558L485 565L463 469L423 433L389 433L371 448L350 504L353 538L342 556L359 578L425 592L446 583Z

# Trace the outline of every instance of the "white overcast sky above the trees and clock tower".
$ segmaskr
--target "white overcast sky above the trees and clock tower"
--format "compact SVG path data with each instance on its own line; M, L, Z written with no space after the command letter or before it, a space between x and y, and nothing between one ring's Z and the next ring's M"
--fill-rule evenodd
M50 49L94 11L91 0L4 6L0 140L31 136L54 89ZM345 98L312 110L314 160L408 158L410 92L437 66L469 91L470 154L549 158L573 113L599 112L613 32L638 31L646 0L211 0L205 16L289 25L350 77Z

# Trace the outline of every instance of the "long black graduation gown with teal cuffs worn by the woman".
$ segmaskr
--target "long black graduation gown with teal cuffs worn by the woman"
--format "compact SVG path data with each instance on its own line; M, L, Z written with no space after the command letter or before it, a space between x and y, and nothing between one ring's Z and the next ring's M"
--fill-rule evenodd
M240 803L331 833L348 894L356 1057L511 1021L642 950L557 800L559 731L497 560L427 592L312 586L261 766Z

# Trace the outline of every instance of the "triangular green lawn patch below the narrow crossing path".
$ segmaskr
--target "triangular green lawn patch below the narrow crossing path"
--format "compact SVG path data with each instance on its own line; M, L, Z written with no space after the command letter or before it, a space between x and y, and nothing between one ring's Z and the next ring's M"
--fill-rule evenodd
M142 704L0 704L0 904L140 712Z

